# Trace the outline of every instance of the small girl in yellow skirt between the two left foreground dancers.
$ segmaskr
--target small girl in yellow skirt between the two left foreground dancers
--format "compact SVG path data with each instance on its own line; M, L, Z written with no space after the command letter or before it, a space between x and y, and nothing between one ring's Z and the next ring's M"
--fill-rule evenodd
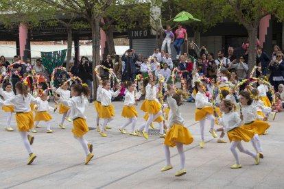
M51 106L48 105L48 101L47 101L47 94L45 92L43 92L40 95L40 101L38 103L38 108L36 111L36 116L34 116L34 121L36 121L36 123L34 124L34 128L32 128L32 132L36 133L36 129L38 128L38 123L40 123L40 121L45 121L45 123L47 123L47 133L51 134L54 131L51 130L50 128L50 121L52 119L51 115L48 113L48 111L54 111L54 108L52 108Z

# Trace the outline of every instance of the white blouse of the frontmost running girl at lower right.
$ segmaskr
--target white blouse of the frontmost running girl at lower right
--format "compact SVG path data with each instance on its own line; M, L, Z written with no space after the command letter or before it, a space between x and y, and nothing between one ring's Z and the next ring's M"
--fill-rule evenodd
M241 126L241 118L237 112L229 112L228 114L222 114L222 117L218 117L219 125L223 125L226 131L230 131L236 127Z

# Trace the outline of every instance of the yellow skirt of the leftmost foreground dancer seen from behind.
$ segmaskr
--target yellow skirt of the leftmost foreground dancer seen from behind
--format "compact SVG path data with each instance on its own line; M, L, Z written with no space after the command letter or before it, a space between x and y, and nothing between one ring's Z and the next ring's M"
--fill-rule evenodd
M18 131L29 131L34 127L34 114L32 111L27 113L16 113L16 126Z

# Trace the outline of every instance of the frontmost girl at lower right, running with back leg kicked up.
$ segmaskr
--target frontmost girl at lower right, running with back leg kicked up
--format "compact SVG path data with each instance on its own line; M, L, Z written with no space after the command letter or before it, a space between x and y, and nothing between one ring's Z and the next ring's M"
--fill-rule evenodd
M241 126L241 118L237 112L233 112L235 109L235 105L227 100L223 99L220 103L220 110L224 112L222 114L222 118L216 114L218 117L218 123L224 126L224 129L227 131L228 138L230 140L230 151L233 153L235 157L236 163L230 168L241 168L241 163L239 162L239 155L237 154L236 148L239 149L240 152L246 153L252 156L255 159L255 164L259 164L259 153L252 153L247 149L244 149L241 144L241 140L248 142L252 139L255 133Z

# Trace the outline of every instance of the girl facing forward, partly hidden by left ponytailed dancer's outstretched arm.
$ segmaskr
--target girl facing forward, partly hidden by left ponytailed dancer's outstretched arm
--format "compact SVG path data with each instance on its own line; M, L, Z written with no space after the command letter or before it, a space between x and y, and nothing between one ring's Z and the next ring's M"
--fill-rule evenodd
M69 87L68 82L62 81L60 88L56 90L56 93L60 95L60 98L63 100L67 100L67 101L70 100L70 96L71 96L70 90L68 90L68 87ZM71 122L71 118L69 118L70 113L71 113L70 108L63 105L62 103L59 104L59 114L63 114L61 123L59 124L59 127L61 127L62 129L65 129L63 125L65 119Z

